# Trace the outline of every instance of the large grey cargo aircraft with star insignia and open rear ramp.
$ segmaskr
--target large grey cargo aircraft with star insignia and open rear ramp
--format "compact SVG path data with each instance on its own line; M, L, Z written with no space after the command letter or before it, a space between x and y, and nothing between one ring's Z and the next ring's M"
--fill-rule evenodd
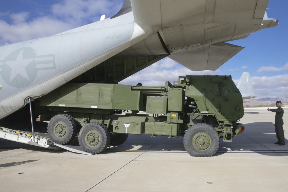
M0 47L0 119L73 82L117 83L168 57L216 70L244 47L226 43L278 25L269 0L126 0L111 18Z

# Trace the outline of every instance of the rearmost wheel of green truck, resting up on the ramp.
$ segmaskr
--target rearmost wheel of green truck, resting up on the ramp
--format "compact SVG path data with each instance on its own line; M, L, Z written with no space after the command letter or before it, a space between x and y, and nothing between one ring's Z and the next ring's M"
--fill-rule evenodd
M67 114L55 115L48 123L47 132L53 142L68 144L76 137L76 120Z

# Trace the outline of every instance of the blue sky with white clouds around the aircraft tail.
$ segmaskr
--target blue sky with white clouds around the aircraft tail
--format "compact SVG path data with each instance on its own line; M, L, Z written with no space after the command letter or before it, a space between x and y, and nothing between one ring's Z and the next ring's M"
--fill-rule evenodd
M54 35L109 18L124 0L0 0L0 45ZM194 72L168 58L121 81L121 84L164 85L178 76L232 75L237 84L244 71L251 75L256 98L288 97L288 1L270 0L268 18L279 25L228 43L245 47L216 71Z

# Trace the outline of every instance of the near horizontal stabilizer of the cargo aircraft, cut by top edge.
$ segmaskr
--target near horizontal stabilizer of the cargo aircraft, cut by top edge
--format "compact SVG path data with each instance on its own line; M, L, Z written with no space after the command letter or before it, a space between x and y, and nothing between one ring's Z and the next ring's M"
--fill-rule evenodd
M269 0L131 0L134 19L149 26L176 23L261 24ZM181 13L181 14L180 14Z

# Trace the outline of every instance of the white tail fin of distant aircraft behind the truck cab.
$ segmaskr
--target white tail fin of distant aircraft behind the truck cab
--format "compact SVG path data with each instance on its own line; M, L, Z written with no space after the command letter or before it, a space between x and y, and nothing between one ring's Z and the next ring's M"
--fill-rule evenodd
M254 96L252 81L248 72L242 73L237 88L240 90L243 99L253 99L256 97Z

